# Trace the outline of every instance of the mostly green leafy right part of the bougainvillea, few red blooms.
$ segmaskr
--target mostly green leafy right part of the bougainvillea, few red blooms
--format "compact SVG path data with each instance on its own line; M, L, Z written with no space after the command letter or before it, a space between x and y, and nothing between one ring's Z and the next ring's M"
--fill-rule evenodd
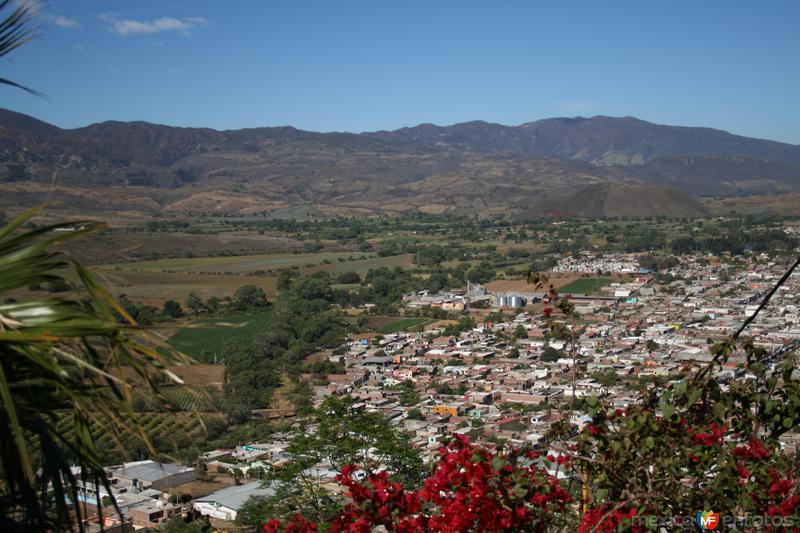
M785 487L795 486L797 475L778 441L800 423L795 360L789 355L773 371L752 340L736 346L756 379L732 381L725 390L711 376L734 349L726 342L714 348L712 366L651 389L627 411L587 400L593 421L578 454L596 459L583 466L593 507L619 505L651 516L693 515L710 506L733 516L783 513L778 506L787 503ZM796 515L796 503L786 510Z

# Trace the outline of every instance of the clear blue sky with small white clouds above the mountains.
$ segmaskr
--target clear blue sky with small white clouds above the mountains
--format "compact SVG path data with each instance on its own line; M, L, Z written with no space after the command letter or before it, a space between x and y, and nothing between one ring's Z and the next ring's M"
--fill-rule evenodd
M800 144L800 2L49 0L0 106L62 127L636 116Z

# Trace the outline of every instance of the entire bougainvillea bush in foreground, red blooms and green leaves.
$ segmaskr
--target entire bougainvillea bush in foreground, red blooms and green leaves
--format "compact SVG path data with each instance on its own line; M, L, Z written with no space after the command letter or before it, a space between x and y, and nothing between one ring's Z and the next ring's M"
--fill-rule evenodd
M571 304L552 302L547 320L567 324L574 345ZM710 364L648 385L626 409L588 398L591 422L554 425L539 450L551 456L454 436L417 490L386 471L357 481L351 465L332 521L275 517L263 531L696 531L698 513L720 531L800 531L800 465L781 445L800 424L795 358L740 337L745 326L713 346ZM733 353L737 379L722 381Z

